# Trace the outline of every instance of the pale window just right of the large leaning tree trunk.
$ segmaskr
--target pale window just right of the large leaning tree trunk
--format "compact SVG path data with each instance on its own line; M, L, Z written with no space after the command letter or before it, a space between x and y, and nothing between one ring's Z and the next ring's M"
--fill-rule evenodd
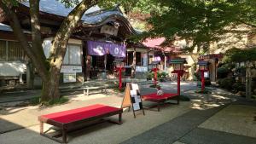
M76 44L68 44L63 60L65 65L81 65L81 47Z

